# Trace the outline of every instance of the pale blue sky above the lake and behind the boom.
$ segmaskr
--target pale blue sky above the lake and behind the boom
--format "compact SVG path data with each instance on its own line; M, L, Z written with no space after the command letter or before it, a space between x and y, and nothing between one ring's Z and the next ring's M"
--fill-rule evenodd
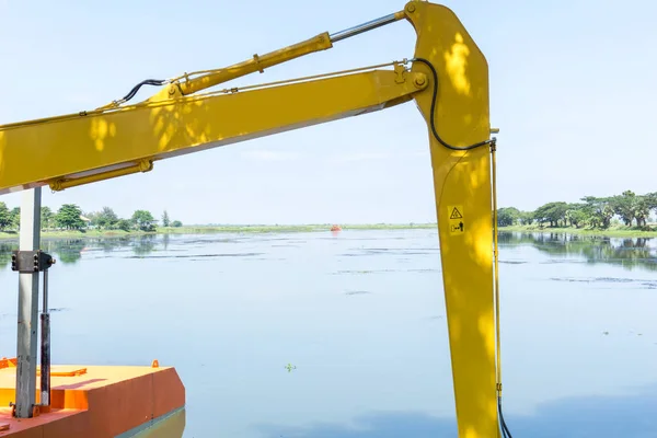
M95 108L143 79L229 66L404 4L0 0L0 124ZM657 191L657 3L442 4L489 65L499 206ZM411 58L414 45L401 21L231 84ZM146 89L136 101L157 91ZM434 222L427 140L410 102L159 161L146 174L59 193L44 187L43 204L73 203L84 212L110 206L122 217L166 209L184 223ZM0 200L14 207L20 196Z

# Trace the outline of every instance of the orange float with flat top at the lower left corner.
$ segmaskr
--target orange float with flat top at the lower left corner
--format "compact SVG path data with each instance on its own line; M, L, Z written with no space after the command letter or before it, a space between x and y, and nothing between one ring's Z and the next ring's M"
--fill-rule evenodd
M172 367L53 366L50 378L50 405L16 418L16 359L0 359L1 438L183 436L185 388Z

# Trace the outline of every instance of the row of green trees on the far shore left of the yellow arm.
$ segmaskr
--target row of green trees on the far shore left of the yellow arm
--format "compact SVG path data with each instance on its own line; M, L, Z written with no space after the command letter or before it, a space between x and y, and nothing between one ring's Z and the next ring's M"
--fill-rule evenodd
M148 210L136 210L129 218L119 218L111 207L103 207L101 211L82 212L76 204L64 204L57 211L50 207L42 207L42 230L123 230L123 231L155 231L160 222L162 227L182 227L180 220L171 220L166 210L158 221ZM0 231L19 230L21 224L21 208L10 209L0 201Z

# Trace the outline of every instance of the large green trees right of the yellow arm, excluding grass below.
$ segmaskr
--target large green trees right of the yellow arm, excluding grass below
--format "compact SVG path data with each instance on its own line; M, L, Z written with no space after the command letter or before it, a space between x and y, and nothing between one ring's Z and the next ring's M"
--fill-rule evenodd
M520 211L515 207L497 210L498 227L531 226L575 227L608 229L614 220L626 227L650 229L650 212L657 214L657 192L636 195L625 191L608 197L585 196L580 203L548 203L534 211Z

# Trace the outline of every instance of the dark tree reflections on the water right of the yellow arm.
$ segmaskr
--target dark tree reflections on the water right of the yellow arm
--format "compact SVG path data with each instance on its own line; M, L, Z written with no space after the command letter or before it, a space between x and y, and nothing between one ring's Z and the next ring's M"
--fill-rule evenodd
M604 238L551 232L500 232L504 246L532 245L551 256L581 257L587 263L608 263L627 269L657 270L657 244L647 238Z

